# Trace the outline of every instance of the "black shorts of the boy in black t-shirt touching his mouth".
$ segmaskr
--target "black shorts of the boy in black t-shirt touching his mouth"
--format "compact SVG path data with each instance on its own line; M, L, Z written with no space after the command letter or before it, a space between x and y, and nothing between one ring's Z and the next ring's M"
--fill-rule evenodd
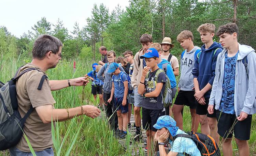
M157 119L163 115L162 109L154 110L142 107L142 125L146 131L151 129L156 132L157 129L153 127L156 124Z

